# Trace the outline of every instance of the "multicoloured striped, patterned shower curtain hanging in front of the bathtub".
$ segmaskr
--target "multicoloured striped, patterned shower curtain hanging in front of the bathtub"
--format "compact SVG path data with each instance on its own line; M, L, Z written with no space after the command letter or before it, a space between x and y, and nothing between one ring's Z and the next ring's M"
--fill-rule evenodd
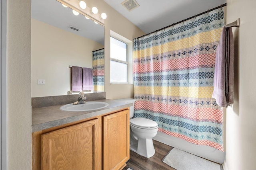
M134 117L158 131L223 151L222 108L212 98L224 9L134 39Z

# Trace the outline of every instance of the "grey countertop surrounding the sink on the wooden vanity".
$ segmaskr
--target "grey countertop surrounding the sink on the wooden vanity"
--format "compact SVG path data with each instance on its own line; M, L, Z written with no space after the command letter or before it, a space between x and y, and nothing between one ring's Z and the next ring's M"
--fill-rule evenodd
M108 107L95 111L62 111L60 107L63 105L37 107L32 109L32 132L48 129L51 127L72 123L82 119L102 115L119 109L132 106L132 103L101 99L98 102L106 102Z

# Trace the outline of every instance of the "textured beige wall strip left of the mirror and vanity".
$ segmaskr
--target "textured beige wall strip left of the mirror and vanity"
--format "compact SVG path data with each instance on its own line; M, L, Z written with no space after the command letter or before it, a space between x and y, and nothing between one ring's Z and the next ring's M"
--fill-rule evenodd
M31 169L30 1L7 1L7 166Z

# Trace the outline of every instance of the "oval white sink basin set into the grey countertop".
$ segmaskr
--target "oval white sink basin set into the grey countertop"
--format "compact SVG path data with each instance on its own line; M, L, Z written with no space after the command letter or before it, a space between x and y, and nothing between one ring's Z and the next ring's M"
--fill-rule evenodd
M61 106L60 109L64 111L92 111L108 107L105 102L86 102L85 104L66 104Z

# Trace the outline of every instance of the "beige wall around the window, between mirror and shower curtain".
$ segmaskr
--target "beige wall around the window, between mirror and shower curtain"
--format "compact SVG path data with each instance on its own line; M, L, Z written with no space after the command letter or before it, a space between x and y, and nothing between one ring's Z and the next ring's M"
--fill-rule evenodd
M92 8L96 6L99 14L105 12L105 92L107 99L133 98L133 84L110 84L110 30L122 35L133 42L133 39L140 37L145 33L142 32L133 23L128 21L124 16L106 4L103 0L86 1L87 6Z

